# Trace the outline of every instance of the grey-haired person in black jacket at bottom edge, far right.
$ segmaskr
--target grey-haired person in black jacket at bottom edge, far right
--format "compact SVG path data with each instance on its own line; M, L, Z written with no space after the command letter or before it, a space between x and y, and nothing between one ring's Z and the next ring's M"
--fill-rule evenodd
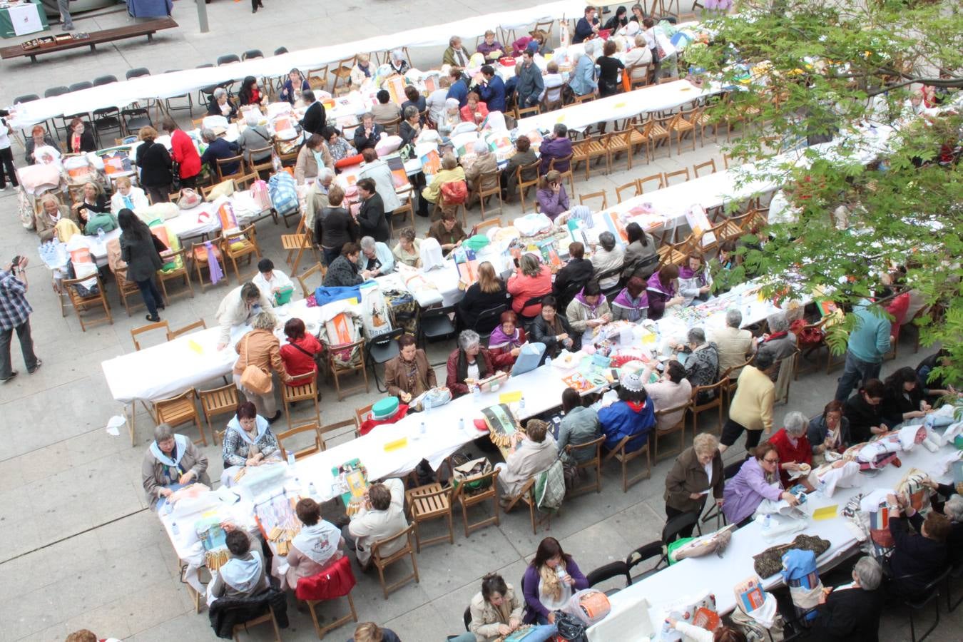
M831 592L820 597L812 639L821 642L878 642L883 592L877 589L882 578L879 562L866 555L853 567L851 584L823 589Z

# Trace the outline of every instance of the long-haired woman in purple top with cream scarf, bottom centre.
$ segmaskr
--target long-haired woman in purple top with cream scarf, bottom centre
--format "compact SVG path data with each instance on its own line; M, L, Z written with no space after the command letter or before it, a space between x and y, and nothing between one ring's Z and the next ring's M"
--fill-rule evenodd
M559 573L561 569L562 573ZM522 577L525 586L525 623L555 624L555 611L568 604L576 591L588 588L588 579L559 540L546 537Z

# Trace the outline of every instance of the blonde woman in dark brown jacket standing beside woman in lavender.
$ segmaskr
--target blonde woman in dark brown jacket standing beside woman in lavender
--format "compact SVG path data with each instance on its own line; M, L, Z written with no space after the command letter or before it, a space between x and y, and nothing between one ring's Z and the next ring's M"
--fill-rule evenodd
M724 486L722 453L715 435L703 432L695 436L692 446L676 457L665 477L665 517L671 520L684 513L702 514L710 491L721 507ZM680 537L691 537L695 525L679 531Z

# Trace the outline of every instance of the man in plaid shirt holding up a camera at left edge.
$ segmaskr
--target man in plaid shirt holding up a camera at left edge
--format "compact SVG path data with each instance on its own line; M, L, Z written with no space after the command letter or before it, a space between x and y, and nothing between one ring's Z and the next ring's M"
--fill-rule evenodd
M27 302L26 269L26 257L14 256L10 267L0 270L0 383L7 383L16 376L10 362L14 330L20 340L27 372L33 374L43 364L34 354L34 340L30 336L30 313L34 310Z

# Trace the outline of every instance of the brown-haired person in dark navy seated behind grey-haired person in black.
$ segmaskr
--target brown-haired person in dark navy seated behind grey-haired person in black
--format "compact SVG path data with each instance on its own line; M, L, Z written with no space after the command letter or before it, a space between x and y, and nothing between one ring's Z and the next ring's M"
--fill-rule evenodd
M887 558L888 591L905 600L923 597L927 584L947 569L950 520L935 510L924 519L904 496L886 496L893 552ZM910 526L916 531L910 529Z

